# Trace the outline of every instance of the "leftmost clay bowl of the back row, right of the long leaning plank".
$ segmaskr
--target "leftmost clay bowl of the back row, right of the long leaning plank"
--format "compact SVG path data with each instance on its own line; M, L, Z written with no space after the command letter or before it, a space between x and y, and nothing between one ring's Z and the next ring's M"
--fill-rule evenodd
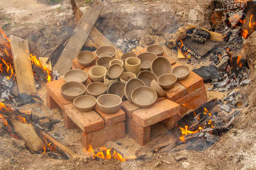
M90 66L93 64L95 57L92 52L89 51L82 51L77 53L76 60L79 64L83 66Z

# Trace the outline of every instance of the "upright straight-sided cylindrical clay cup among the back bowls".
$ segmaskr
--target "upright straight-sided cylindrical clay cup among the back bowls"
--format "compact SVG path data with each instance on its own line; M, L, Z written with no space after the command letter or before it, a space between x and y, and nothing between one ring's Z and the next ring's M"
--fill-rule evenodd
M138 74L140 73L140 69L141 69L140 64L141 64L140 59L136 57L130 57L125 60L125 71Z

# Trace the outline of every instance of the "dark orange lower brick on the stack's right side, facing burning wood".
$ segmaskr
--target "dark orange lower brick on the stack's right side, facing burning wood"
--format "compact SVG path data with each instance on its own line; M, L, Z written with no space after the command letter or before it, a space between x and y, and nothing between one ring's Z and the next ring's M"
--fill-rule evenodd
M180 104L180 115L184 115L189 109L195 110L202 104L207 102L207 93L205 87L199 87L190 94L182 97L176 103ZM184 105L186 105L186 107Z

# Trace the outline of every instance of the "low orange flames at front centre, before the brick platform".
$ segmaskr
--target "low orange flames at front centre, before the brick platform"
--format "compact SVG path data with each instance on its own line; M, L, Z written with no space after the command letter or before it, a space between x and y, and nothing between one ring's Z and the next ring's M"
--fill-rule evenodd
M83 148L84 152L89 156L92 157L92 159L95 159L96 157L99 157L101 159L117 159L120 160L121 162L124 162L126 159L122 157L122 155L116 150L113 151L113 148L106 148L106 147L100 147L100 151L95 154L93 148L91 145L89 145L88 150L86 151L85 148ZM113 152L111 154L111 152Z

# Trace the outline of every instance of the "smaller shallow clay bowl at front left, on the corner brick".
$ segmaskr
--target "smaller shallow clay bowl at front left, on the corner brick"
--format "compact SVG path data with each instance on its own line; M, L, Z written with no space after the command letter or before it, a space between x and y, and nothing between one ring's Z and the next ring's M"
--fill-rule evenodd
M90 111L96 105L96 98L90 95L82 95L76 97L73 101L74 106L80 111Z

